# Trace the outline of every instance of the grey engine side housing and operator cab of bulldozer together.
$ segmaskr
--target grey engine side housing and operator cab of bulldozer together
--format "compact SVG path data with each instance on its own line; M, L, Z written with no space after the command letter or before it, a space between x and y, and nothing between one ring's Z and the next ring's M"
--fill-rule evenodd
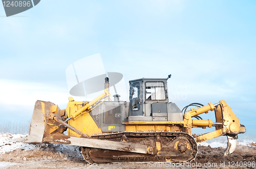
M167 79L131 80L130 102L115 95L115 101L104 101L89 113L102 132L123 132L124 123L131 121L183 121L181 110L169 102Z

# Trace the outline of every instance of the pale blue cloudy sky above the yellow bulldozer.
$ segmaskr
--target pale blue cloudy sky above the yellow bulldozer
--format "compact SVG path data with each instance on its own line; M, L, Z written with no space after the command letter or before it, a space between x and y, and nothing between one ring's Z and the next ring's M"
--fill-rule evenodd
M255 9L255 1L62 0L5 17L0 6L1 120L31 118L37 99L65 108L66 68L100 53L126 85L172 74L169 95L181 109L226 100L256 137Z

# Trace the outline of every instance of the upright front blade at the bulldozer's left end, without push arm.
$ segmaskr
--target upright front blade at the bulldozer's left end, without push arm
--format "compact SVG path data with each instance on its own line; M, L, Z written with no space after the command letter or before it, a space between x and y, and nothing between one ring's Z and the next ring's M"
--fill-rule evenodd
M29 135L27 139L24 140L24 143L37 144L42 142L45 131L45 121L49 115L49 110L52 105L55 104L40 100L35 102Z

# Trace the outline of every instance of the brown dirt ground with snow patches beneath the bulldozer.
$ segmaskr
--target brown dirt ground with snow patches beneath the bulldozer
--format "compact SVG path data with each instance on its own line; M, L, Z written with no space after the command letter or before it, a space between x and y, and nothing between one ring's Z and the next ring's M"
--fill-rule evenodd
M0 168L256 168L255 145L241 146L229 156L222 158L224 148L199 146L195 160L188 164L170 163L103 163L89 164L83 160L78 147L61 149L61 145L40 144L36 150L17 149L0 155Z

